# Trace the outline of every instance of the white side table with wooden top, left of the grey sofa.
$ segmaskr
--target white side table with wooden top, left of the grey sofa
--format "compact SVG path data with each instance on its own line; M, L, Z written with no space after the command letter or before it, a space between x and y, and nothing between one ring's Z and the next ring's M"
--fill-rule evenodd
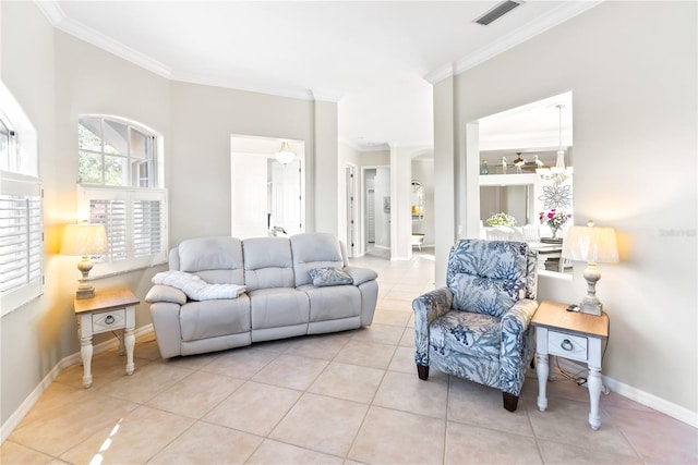
M119 355L127 354L127 375L133 375L135 345L135 306L139 299L128 289L104 291L92 298L74 298L80 334L80 354L83 359L83 387L92 387L93 334L123 330L119 338Z

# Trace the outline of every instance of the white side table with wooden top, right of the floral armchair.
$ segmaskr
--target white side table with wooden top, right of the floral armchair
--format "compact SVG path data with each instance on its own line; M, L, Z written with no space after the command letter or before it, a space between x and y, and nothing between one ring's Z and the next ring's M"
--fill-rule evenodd
M550 368L547 355L555 355L589 367L587 384L589 387L589 425L594 431L601 426L599 399L601 396L601 343L609 339L609 316L567 311L567 304L543 302L533 315L531 325L535 326L535 352L538 364L538 408L545 412L547 397L545 388Z

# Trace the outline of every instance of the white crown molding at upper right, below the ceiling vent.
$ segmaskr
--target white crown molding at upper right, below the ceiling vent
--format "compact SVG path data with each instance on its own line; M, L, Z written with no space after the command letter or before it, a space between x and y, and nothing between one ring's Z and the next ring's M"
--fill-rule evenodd
M528 23L527 25L519 27L516 30L503 36L494 42L482 47L472 53L469 53L453 63L444 64L436 70L430 72L424 76L430 84L436 84L447 77L456 74L460 74L471 68L477 66L500 53L507 51L508 49L522 44L545 30L571 20L578 14L583 13L587 10L603 3L604 0L589 0L589 1L566 1L554 10L551 10L537 19Z

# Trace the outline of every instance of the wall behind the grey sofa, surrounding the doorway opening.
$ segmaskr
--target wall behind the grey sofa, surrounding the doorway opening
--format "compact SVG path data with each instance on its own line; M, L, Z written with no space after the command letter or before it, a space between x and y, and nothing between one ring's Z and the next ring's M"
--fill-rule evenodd
M170 83L170 240L230 234L230 135L305 142L305 231L315 229L313 102Z

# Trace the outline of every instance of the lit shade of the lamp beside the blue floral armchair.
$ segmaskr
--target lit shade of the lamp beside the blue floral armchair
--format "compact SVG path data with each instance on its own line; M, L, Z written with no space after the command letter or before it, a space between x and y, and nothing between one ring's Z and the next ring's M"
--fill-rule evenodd
M593 225L569 228L563 241L563 257L595 264L617 264L615 230Z

